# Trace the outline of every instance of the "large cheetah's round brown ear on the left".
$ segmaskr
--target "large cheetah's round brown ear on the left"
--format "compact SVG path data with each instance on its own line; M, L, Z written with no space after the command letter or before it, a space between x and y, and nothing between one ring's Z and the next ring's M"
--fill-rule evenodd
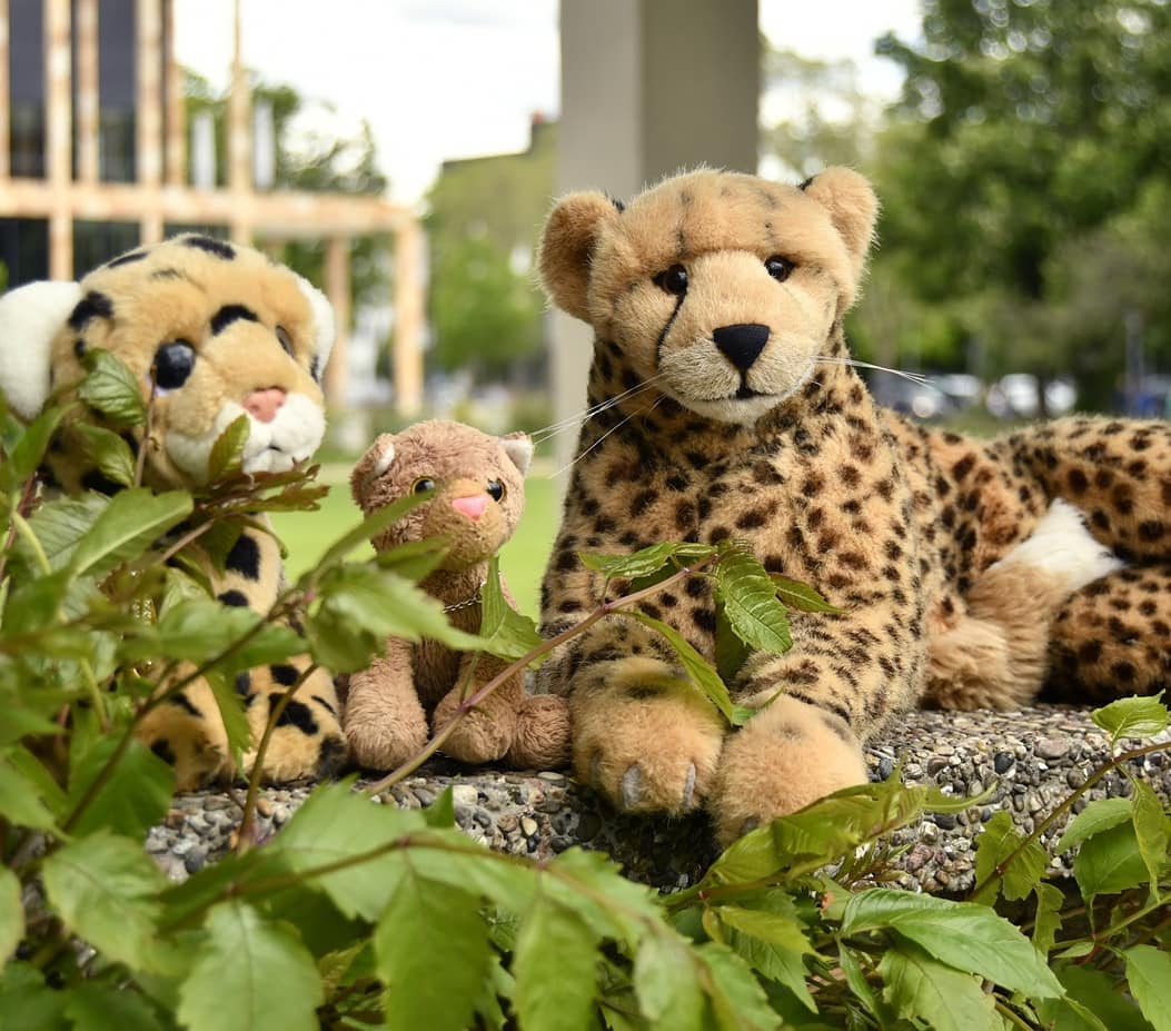
M602 227L618 214L618 206L604 193L570 193L554 206L541 233L541 282L553 303L583 322L589 322L587 296L594 247Z

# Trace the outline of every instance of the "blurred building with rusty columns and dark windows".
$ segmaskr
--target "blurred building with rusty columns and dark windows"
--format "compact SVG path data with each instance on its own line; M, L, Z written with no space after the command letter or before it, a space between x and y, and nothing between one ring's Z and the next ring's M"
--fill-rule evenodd
M266 123L253 117L239 22L237 7L227 182L196 187L187 179L171 0L0 0L0 261L7 286L76 279L130 247L192 226L259 246L324 239L323 287L338 316L326 389L341 402L348 240L391 233L395 387L399 407L410 411L422 389L418 220L379 197L258 189L254 151Z

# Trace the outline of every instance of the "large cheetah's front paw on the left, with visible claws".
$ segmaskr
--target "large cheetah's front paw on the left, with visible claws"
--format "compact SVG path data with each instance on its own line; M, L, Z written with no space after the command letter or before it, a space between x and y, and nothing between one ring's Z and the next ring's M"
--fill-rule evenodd
M570 711L575 774L616 806L683 813L704 800L724 722L666 663L631 656L590 667L575 678Z

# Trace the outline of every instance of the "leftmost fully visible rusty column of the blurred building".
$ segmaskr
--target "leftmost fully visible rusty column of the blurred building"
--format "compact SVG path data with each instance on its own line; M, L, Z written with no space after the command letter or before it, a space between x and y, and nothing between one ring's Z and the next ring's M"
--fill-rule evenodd
M69 0L44 4L44 150L53 187L49 212L49 278L73 279L73 97Z

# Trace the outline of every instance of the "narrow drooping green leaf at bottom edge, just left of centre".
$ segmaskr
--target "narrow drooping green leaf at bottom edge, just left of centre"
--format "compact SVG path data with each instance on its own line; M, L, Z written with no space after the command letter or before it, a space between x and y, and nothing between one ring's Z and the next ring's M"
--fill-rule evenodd
M513 1004L521 1027L587 1031L593 1026L597 935L545 894L516 935Z

